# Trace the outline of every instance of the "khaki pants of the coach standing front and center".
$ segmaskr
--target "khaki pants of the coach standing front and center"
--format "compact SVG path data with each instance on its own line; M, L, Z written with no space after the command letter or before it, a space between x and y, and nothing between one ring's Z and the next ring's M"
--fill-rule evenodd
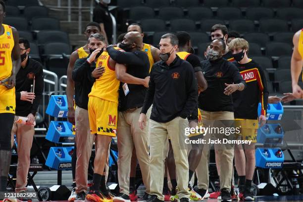
M164 148L167 147L166 141L170 138L174 152L176 171L178 177L178 196L179 198L189 198L187 190L189 173L187 145L185 140L185 127L188 127L188 120L181 117L167 123L158 123L150 120L150 150L151 150L151 194L156 195L159 200L164 201L162 195L163 176L164 176Z

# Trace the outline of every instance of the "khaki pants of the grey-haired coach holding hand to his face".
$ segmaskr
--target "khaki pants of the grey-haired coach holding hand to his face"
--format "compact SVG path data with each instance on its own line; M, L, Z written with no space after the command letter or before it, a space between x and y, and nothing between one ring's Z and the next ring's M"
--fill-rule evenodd
M76 137L77 162L76 162L76 185L77 193L87 191L87 175L89 160L92 154L95 135L91 135L88 110L76 106Z

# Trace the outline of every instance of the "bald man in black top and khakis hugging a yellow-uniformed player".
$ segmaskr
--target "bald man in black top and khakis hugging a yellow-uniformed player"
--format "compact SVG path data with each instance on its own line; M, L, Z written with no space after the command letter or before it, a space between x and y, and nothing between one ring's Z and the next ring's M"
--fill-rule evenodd
M117 123L118 138L118 180L120 193L114 198L114 201L130 202L129 198L129 176L130 164L133 148L136 148L136 154L142 171L143 182L146 187L146 194L150 194L150 156L148 128L141 130L138 125L140 112L145 99L145 94L149 82L150 62L148 55L141 51L143 38L139 32L129 32L124 36L119 48L125 50L121 52L113 47L108 47L107 52L117 63L126 64L121 67L116 66L117 77L124 77L124 73L145 81L142 85L140 81L137 84L120 84L119 91L119 117ZM135 81L134 81L135 82ZM149 117L149 116L148 116Z

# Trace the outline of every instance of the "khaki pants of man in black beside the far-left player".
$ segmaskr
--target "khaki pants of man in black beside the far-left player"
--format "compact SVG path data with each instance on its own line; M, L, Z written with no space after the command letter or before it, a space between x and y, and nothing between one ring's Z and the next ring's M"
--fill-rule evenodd
M18 120L18 116L15 116L15 121ZM30 167L31 148L33 144L33 138L35 134L34 126L24 125L20 123L13 124L11 130L11 141L14 141L14 134L17 138L17 154L18 154L18 166L17 166L17 180L15 191L24 190L27 185L27 173ZM12 145L12 144L11 144Z

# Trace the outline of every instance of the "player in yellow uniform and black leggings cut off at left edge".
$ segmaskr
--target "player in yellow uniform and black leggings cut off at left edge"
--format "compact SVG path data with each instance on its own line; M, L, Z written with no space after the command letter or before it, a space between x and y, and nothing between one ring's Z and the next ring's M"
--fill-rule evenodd
M19 35L14 27L3 24L5 3L0 0L0 192L6 191L10 166L10 133L14 122L16 74L21 67Z

